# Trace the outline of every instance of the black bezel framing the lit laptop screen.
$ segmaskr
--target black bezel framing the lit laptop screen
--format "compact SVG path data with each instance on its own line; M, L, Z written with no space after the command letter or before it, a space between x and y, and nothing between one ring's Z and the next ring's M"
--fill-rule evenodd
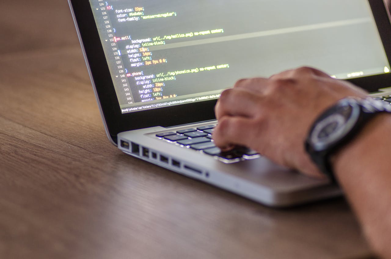
M117 142L117 134L123 131L154 126L170 127L215 119L214 106L217 100L122 114L90 2L88 0L68 1L73 10L91 80L95 86L102 117L106 123L106 130L113 142ZM391 44L385 44L387 39L391 38L391 23L386 7L382 0L368 0L368 2L375 17L387 58L391 60ZM348 81L369 92L375 92L379 86L387 87L390 85L391 74L367 76Z

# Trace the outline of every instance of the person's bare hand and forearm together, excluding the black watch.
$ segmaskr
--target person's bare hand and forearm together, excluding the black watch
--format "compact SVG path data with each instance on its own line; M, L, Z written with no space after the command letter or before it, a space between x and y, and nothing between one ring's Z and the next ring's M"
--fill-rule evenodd
M289 98L281 98L281 96ZM307 175L324 176L305 152L308 129L319 114L344 97L365 99L347 81L314 68L270 78L239 80L216 105L216 146L247 146ZM376 116L353 142L335 154L334 170L376 251L391 258L391 115ZM388 253L388 254L387 254Z

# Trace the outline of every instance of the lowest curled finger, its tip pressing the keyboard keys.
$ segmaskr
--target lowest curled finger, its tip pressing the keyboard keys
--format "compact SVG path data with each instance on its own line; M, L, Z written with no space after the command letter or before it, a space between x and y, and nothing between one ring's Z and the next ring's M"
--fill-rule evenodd
M226 149L232 145L251 147L254 144L253 121L238 116L224 116L219 120L212 138L216 146Z

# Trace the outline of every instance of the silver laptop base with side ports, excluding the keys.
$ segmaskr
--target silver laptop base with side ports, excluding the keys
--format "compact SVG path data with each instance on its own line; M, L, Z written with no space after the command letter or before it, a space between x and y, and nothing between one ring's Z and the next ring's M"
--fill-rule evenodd
M191 127L204 125L208 124ZM270 207L290 207L342 194L328 180L310 178L276 165L265 157L226 164L213 156L155 137L156 133L183 128L153 127L122 132L118 134L118 148L128 155Z

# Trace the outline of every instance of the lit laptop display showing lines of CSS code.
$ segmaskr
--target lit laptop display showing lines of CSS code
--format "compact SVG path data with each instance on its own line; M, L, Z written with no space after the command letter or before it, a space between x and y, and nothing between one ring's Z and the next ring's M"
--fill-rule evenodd
M390 72L367 0L90 0L122 113L217 99L246 77L312 66Z

